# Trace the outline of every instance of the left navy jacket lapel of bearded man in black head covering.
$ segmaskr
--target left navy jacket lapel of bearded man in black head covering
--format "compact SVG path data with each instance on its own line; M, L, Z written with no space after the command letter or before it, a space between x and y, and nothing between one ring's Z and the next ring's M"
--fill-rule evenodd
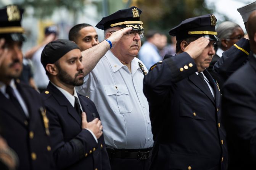
M81 125L81 116L77 114L76 109L69 103L68 99L55 87L52 83L49 82L47 89L49 89L60 106L66 106L68 113Z

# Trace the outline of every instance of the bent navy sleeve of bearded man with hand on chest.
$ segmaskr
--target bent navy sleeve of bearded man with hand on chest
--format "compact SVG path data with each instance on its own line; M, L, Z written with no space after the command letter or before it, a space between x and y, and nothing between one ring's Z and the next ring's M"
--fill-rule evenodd
M73 139L64 141L61 124L54 109L47 107L46 113L50 122L53 157L58 169L67 168L69 165L75 164L84 158L85 153L90 153L92 148L97 147L97 142L86 129L82 129Z

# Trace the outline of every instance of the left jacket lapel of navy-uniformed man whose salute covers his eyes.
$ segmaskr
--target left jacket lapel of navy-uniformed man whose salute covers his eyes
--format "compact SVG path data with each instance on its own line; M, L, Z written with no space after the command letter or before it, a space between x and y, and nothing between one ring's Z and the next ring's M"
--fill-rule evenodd
M206 87L204 86L204 84L202 83L202 80L200 79L199 76L196 75L196 73L194 73L193 75L189 76L188 79L190 81L192 81L193 84L195 84L195 86L197 86L201 91L204 92L204 94L207 95L207 97L213 102L213 104L215 105L215 101L213 98L213 95L211 94L211 92L206 89ZM207 78L208 79L208 78Z

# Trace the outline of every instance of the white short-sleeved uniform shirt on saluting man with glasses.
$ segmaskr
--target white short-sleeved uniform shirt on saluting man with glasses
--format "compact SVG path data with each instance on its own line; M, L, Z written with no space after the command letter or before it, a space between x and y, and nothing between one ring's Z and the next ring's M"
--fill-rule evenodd
M128 67L108 51L85 76L80 91L95 103L105 143L113 148L153 146L148 102L143 94L144 75L138 61L136 57L132 60L130 73Z

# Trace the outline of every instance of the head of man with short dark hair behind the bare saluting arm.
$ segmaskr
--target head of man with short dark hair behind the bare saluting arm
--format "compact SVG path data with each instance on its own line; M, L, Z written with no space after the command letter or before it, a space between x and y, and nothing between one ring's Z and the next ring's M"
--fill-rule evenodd
M71 28L68 38L74 41L81 51L84 51L99 43L98 34L90 24L77 24Z

